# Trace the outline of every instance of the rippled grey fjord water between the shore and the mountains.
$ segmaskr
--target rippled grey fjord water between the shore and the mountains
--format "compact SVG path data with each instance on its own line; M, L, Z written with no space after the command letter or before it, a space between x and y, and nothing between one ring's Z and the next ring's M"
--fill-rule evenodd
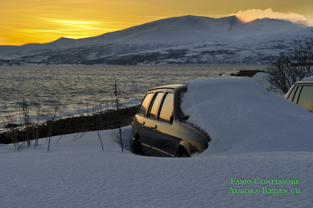
M84 112L105 103L118 84L121 102L139 104L148 89L186 80L230 77L239 70L265 69L265 65L156 65L156 66L8 66L0 67L0 113L3 106L20 120L22 98L35 116L48 119L59 102L59 116ZM220 74L223 74L221 76ZM97 100L97 101L95 101Z

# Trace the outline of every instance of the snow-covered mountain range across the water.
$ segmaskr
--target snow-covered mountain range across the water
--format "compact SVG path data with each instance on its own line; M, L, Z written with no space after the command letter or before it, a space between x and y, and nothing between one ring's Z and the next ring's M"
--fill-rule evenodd
M313 27L275 19L183 16L84 39L0 46L1 64L266 63Z

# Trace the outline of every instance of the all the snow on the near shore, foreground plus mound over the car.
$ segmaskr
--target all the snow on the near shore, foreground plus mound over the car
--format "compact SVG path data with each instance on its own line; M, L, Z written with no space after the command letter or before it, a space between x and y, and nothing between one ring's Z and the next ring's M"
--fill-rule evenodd
M187 84L182 110L212 138L203 153L134 155L131 126L124 152L118 129L100 131L105 151L97 132L53 137L49 152L45 138L0 145L1 207L312 207L311 112L244 79Z

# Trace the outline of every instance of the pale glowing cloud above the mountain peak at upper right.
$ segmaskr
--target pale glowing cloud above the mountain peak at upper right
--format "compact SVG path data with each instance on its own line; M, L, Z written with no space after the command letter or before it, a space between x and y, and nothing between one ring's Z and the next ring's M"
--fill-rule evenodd
M308 20L303 15L296 13L282 13L282 12L273 12L271 8L261 10L261 9L248 9L246 11L239 11L237 13L230 14L229 16L235 15L239 20L247 22L253 21L255 19L262 18L271 18L286 20L291 22L306 23Z

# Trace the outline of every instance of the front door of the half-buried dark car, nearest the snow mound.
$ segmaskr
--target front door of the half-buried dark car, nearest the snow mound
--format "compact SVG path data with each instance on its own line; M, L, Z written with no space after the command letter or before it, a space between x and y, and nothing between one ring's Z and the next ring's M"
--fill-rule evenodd
M154 156L173 156L170 154L170 135L173 124L174 92L167 90L158 109L156 121L153 125Z

